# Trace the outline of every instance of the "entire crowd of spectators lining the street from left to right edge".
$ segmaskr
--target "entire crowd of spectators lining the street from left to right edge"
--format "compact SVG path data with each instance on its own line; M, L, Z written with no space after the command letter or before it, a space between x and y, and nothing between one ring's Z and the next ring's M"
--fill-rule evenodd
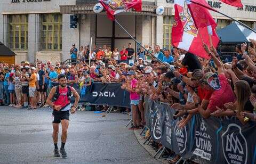
M131 92L133 128L144 124L145 95L170 103L178 111L177 117L185 116L181 125L195 113L204 118L236 116L242 122L245 117L254 120L255 44L251 39L250 44L237 45L237 55L229 63L221 61L215 48L209 50L206 46L210 60L175 47L161 49L158 45L154 50L149 46L148 51L154 54L151 56L143 48L135 54L130 43L122 51L114 48L113 52L106 45L94 46L91 52L88 46L81 46L78 51L73 44L70 54L74 61L69 64L43 64L39 60L34 64L0 63L0 103L28 109L47 106L47 93L57 83L58 75L64 73L69 85L85 90L94 82L123 83L122 88ZM141 117L136 117L137 113Z

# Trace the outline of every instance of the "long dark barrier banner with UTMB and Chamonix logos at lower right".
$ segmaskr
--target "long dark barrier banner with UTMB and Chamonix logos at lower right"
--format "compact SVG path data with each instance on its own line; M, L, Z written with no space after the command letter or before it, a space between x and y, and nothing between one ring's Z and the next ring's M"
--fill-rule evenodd
M145 120L153 140L183 158L199 163L256 163L256 122L242 125L235 117L203 119L196 114L180 128L182 118L173 118L175 110L169 104L145 100Z

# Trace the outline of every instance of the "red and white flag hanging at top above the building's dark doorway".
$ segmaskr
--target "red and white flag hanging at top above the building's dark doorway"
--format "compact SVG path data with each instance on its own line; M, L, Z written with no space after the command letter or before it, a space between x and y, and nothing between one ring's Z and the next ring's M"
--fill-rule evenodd
M141 0L100 0L101 5L107 12L110 20L115 20L115 15L133 8L135 11L141 11Z

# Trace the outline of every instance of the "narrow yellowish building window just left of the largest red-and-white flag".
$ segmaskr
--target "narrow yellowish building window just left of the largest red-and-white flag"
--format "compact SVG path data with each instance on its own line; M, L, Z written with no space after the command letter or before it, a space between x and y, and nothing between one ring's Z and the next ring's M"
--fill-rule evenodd
M171 50L171 34L173 25L173 16L164 17L164 29L163 29L163 48Z

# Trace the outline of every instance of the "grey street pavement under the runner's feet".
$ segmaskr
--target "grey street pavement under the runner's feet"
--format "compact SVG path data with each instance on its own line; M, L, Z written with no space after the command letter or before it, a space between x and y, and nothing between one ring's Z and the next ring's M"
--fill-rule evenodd
M89 111L70 114L68 157L55 158L50 109L0 106L0 163L160 163L124 127L129 119L120 113L106 117Z

